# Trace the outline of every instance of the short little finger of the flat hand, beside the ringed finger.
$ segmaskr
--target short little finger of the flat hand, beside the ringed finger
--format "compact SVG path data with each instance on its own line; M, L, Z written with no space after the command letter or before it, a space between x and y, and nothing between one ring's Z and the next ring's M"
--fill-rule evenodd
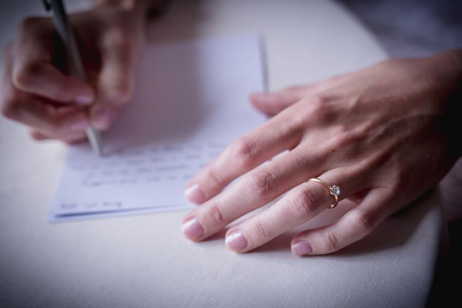
M383 189L371 190L337 222L297 234L292 239L292 253L297 256L330 254L359 241L387 217L381 208L390 201Z

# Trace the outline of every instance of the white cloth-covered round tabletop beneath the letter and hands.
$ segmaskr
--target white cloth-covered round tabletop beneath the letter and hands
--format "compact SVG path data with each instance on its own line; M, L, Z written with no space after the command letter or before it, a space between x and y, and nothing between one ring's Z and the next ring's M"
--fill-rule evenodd
M153 41L264 33L272 89L386 57L348 13L323 0L188 2L151 27ZM33 143L23 128L3 119L0 144L5 305L422 306L428 295L441 227L437 195L336 254L294 257L286 234L238 255L227 251L223 233L202 243L185 240L183 211L49 224L63 147ZM340 204L310 225L347 209Z

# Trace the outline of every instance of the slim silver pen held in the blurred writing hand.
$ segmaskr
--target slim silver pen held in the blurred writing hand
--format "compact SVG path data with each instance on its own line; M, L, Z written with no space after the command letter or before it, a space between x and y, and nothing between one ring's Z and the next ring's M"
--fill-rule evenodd
M64 8L64 3L62 0L43 0L45 9L47 11L53 12L53 24L56 28L56 31L60 35L61 39L64 42L64 46L67 50L70 60L70 73L82 80L86 80L85 70L82 65L82 60L80 58L79 49L75 42L74 33L69 24L69 20L66 14L66 9ZM88 112L88 107L83 107L85 111ZM100 132L95 129L91 124L85 129L88 141L90 142L91 148L98 155L102 155L102 147L100 140Z

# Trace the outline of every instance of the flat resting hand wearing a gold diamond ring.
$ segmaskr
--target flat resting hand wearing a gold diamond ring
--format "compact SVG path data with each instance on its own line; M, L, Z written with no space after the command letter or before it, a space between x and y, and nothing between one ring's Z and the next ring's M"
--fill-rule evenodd
M248 252L329 208L328 188L305 182L318 177L357 206L331 225L296 235L292 252L328 254L360 240L435 185L460 156L453 95L461 81L462 56L447 52L252 95L257 108L276 115L191 179L185 194L202 204L185 216L184 235L204 240L290 190L227 230L228 248ZM284 150L290 151L261 165Z

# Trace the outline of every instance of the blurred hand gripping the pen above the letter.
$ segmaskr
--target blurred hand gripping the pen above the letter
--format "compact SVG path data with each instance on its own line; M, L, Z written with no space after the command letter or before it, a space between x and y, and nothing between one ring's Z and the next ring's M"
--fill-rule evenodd
M80 141L89 123L107 129L133 91L143 17L141 7L115 4L70 15L88 82L67 74L51 18L26 18L5 50L2 113L26 124L37 140ZM91 105L89 115L82 105Z

